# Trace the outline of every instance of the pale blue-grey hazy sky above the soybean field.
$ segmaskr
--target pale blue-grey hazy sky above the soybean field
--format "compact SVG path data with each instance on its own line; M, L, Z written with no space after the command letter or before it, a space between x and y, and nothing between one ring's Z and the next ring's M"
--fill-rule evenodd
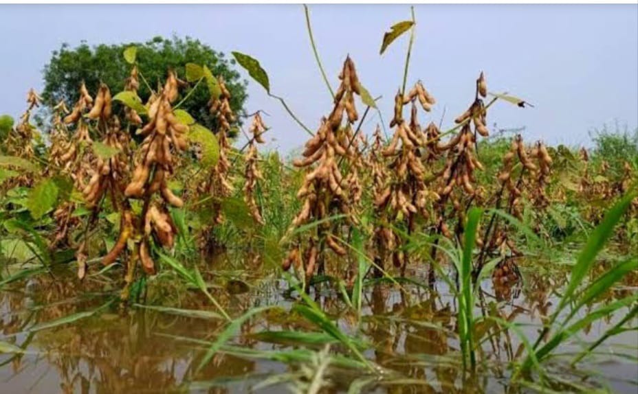
M349 54L362 84L374 97L383 96L379 107L389 122L408 36L382 56L379 50L384 32L410 19L410 6L309 7L332 86ZM332 108L302 5L0 5L0 14L0 114L23 111L28 89L43 88L43 67L62 43L140 42L172 34L258 59L272 93L285 97L313 130ZM638 126L638 5L415 5L415 14L408 86L421 80L437 98L421 124L443 119L443 129L452 126L471 104L474 81L484 71L489 91L507 91L535 106L499 102L487 117L490 127L525 127L527 141L588 145L589 132L604 124ZM248 94L248 113L269 115L268 148L290 152L303 145L307 134L278 101L252 80ZM363 113L362 104L358 108ZM371 135L379 122L373 113L362 130Z

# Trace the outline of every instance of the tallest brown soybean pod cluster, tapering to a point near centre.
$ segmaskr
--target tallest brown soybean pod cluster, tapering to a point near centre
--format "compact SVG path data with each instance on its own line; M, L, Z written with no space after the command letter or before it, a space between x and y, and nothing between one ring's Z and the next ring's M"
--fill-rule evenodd
M355 144L351 143L351 124L359 117L354 95L360 94L360 84L355 65L349 57L344 61L339 79L341 83L335 94L333 110L327 118L322 119L316 135L305 144L304 158L293 162L296 167L307 167L308 170L297 193L297 197L303 199L303 207L294 218L291 229L309 220L322 220L338 213L345 214L351 222L355 221L350 207L351 190L347 176L343 176L339 167L342 160L353 167ZM347 126L342 127L344 117ZM354 179L350 181L351 185ZM330 222L320 224L318 234L311 236L305 252L301 253L298 247L293 248L283 267L289 268L290 262L294 262L296 256L301 256L305 268L300 270L305 272L309 281L321 264L320 245L324 242L336 254L346 255L347 251L339 244L334 231L336 228Z

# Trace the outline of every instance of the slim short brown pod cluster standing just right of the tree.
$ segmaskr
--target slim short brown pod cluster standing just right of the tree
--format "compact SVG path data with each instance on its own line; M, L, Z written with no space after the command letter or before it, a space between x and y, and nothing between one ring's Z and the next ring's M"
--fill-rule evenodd
M255 200L255 189L257 187L258 181L263 181L263 176L259 171L259 167L257 167L257 162L259 161L259 153L257 152L257 147L255 142L264 143L263 137L261 136L263 132L266 130L266 126L263 124L263 120L259 113L256 113L253 117L252 125L250 126L250 132L252 132L252 139L250 139L248 143L248 151L245 154L245 172L244 176L246 181L243 186L244 191L244 201L246 205L248 205L248 211L250 212L250 216L256 220L259 224L264 224L263 218L261 216L261 212L259 212L259 207L257 206L257 202Z

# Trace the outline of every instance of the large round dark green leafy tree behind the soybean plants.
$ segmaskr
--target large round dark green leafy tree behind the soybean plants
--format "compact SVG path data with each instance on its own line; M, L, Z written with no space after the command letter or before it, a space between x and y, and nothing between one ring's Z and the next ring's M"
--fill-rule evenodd
M146 43L101 44L94 47L89 47L83 42L73 49L65 43L61 49L53 52L51 61L43 70L45 89L42 97L45 103L52 106L60 100L65 100L67 106L72 108L78 99L78 89L82 81L87 84L87 89L91 93L98 90L100 82L107 84L113 95L122 91L124 80L131 70L131 65L124 60L122 54L124 49L131 45L137 48L137 67L153 89L166 78L169 69L177 71L177 75L185 79L186 63L206 65L214 76L224 78L232 95L230 107L235 113L242 113L243 104L248 97L245 91L248 82L241 80L239 73L234 69L235 60L227 60L223 53L214 51L208 45L188 36L184 39L173 36L170 40L157 36ZM182 90L182 97L188 95L192 87ZM150 95L148 86L143 82L140 83L137 93L144 101ZM206 84L201 83L184 102L182 108L200 124L214 130L214 119L208 112L209 98Z

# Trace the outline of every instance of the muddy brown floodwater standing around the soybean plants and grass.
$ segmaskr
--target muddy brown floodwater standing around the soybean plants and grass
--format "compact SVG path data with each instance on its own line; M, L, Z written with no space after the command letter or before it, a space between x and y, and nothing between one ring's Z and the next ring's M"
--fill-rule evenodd
M520 264L519 268L521 279L504 285L490 278L481 283L475 314L522 323L522 332L533 342L540 332L542 316L551 314L568 276L544 272L538 263ZM245 321L232 340L197 371L209 343L225 327L222 320L139 306L122 308L118 302L107 304L118 294L118 271L87 277L83 282L71 271L41 274L11 283L0 292L0 343L25 349L24 354L0 352L0 393L306 392L312 376L305 375L307 369L302 365L311 364L313 356L330 341L325 334L318 334L314 344L271 334L320 329L290 312L298 297L287 292L285 281L275 279L276 273L269 274L263 267L219 267L212 270L215 277L210 272L204 276L215 283L211 291L232 316L265 305L281 308ZM426 283L424 270L408 274ZM621 288L588 305L582 314L637 291L637 276L629 275ZM481 361L476 377L464 382L454 334L456 303L447 285L439 281L434 289L415 283L401 283L401 287L403 291L392 283L366 286L361 318L332 287L323 286L318 294L311 293L329 316L337 318L344 332L356 334L367 344L363 345L363 355L382 369L381 375L373 375L364 368L352 368L348 362L336 362L325 370L322 381L327 385L320 392L347 392L353 382L362 384L362 392L373 393L538 390L533 383L511 386L510 362L522 360L522 341L516 332L488 323L476 327L481 340L477 357ZM148 281L148 292L140 302L144 303L144 298L145 305L214 312L201 292L186 288L168 273ZM85 315L76 321L47 327L48 322L82 312ZM577 369L569 367L577 353L626 312L621 310L587 327L584 334L558 349L562 356L544 364L554 391L577 391L576 387L637 393L635 330L611 338ZM636 323L634 320L631 324L635 327ZM338 343L332 343L329 351L348 354ZM533 380L538 382L538 376Z

